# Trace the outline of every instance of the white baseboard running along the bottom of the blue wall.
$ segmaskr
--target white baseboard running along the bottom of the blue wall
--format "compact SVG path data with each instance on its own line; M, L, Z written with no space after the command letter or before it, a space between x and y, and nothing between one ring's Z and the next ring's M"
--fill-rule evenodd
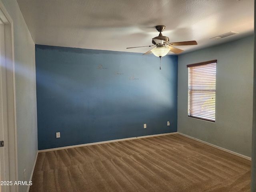
M38 150L38 152L47 152L47 151L54 151L54 150L60 150L60 149L68 149L68 148L74 148L74 147L82 147L82 146L88 146L88 145L97 145L97 144L103 144L103 143L110 143L110 142L118 142L118 141L126 141L126 140L132 140L132 139L140 139L140 138L147 138L147 137L155 137L155 136L162 136L162 135L170 135L170 134L177 134L178 132L173 133L162 133L162 134L155 134L155 135L146 135L146 136L139 136L139 137L130 137L130 138L124 138L124 139L115 139L115 140L109 140L109 141L101 141L101 142L94 142L94 143L86 143L81 145L72 145L72 146L66 146L66 147L58 147L58 148L52 148L52 149L43 149Z

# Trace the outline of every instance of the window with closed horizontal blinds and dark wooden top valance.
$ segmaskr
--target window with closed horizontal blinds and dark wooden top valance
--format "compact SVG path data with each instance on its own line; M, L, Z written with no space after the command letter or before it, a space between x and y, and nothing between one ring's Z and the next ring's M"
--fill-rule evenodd
M215 122L217 60L188 67L188 116Z

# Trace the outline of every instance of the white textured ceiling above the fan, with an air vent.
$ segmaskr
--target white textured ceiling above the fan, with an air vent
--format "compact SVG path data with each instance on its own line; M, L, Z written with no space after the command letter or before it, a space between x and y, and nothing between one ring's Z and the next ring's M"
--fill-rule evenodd
M254 0L17 0L35 44L144 53L158 36L190 52L253 35ZM214 40L227 33L238 34ZM183 52L183 53L184 53ZM171 53L170 53L171 54Z

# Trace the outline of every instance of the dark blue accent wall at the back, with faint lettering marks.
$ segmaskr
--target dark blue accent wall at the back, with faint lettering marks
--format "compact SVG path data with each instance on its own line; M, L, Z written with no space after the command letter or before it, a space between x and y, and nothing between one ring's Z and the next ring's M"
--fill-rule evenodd
M178 56L161 65L153 54L36 45L38 150L176 132Z

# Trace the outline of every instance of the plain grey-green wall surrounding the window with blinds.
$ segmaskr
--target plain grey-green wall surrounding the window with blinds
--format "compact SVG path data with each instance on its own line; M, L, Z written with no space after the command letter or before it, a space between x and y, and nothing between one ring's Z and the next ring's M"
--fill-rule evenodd
M251 157L253 36L178 56L178 132ZM188 118L187 64L217 59L216 122Z

